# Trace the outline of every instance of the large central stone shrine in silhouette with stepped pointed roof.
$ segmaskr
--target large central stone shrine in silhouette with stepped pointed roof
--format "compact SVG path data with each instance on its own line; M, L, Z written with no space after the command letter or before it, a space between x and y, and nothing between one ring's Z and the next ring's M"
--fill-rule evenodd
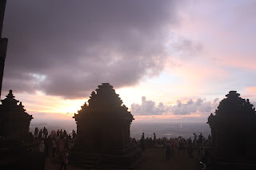
M130 123L134 117L109 83L98 85L89 105L78 114L78 136L74 148L75 160L84 165L101 167L133 167L142 152L130 144ZM80 156L78 156L80 153Z

